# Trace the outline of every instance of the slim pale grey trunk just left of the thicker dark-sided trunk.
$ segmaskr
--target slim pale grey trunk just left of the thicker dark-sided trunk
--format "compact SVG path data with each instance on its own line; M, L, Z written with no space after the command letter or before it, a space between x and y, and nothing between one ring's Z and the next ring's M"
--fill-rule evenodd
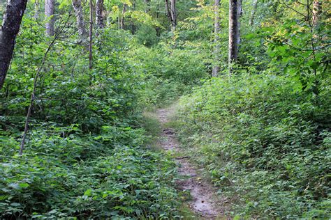
M214 56L215 64L212 68L212 76L216 77L219 74L219 0L214 3L215 17L214 17Z

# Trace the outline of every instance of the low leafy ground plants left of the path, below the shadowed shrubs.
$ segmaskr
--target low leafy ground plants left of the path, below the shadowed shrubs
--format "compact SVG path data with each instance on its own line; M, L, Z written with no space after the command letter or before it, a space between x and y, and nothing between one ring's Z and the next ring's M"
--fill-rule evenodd
M22 157L15 156L19 143L5 140L2 218L163 219L179 214L175 164L142 147L148 138L142 129L105 126L99 136L74 131L66 137L61 132L35 136Z

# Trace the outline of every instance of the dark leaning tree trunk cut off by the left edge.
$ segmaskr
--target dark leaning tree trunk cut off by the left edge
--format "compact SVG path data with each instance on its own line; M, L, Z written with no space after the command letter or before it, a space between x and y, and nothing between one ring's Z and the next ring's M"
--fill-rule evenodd
M13 56L15 38L18 31L20 31L20 25L26 7L27 0L7 1L0 29L0 89L3 87Z

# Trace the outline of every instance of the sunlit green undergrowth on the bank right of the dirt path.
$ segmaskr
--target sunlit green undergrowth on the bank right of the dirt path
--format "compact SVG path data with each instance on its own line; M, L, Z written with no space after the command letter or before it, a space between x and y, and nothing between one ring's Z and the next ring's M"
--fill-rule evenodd
M330 85L311 93L274 74L210 79L179 101L182 146L235 214L330 217Z

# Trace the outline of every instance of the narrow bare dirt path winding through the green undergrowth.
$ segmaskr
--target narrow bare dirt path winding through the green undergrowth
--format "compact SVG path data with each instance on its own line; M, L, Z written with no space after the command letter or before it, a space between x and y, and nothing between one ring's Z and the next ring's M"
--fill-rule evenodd
M165 127L172 115L171 109L159 109L157 116L163 127L161 141L159 145L164 150L180 152L179 143L175 139L175 132L169 127ZM215 189L212 184L203 181L196 168L189 162L188 157L177 157L179 173L187 176L185 180L178 182L178 187L182 190L189 190L191 193L191 210L197 214L198 219L227 219L223 213L221 202L216 199Z

